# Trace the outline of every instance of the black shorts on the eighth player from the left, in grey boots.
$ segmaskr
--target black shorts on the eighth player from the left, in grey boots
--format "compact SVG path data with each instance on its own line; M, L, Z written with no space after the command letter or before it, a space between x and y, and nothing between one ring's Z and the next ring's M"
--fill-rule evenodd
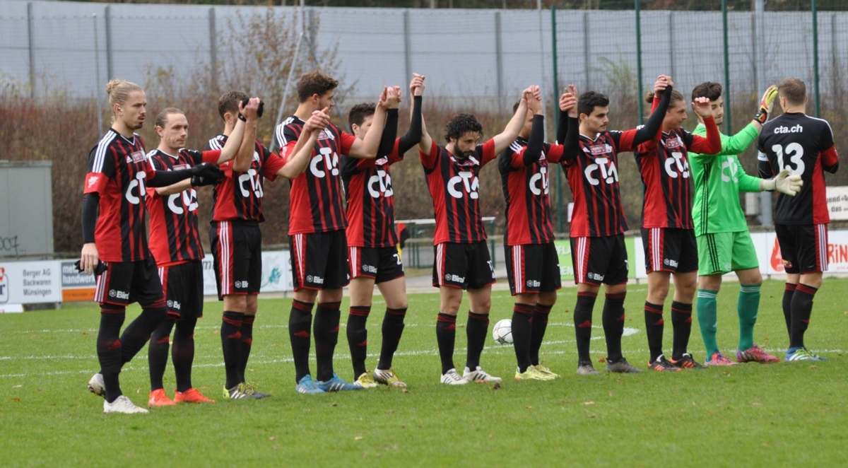
M603 237L572 237L572 265L576 284L623 284L628 282L628 249L624 234Z

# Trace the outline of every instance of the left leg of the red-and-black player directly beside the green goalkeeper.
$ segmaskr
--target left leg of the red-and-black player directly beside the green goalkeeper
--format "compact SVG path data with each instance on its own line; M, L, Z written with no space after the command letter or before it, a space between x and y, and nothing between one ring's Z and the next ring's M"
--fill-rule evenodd
M642 229L642 245L644 247L644 265L648 273L648 297L644 302L644 328L648 337L650 360L648 368L652 370L678 370L662 353L662 332L665 320L662 318L663 304L668 296L672 271L668 270L663 260L665 253L666 229Z

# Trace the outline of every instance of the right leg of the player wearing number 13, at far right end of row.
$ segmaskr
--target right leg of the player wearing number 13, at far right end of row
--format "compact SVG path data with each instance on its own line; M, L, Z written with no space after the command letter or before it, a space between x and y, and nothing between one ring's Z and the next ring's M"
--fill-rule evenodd
M828 226L820 224L792 228L795 230L795 238L801 240L795 244L798 249L801 278L792 296L792 320L786 360L826 360L806 348L804 335L810 324L813 299L818 288L822 287L822 272L828 269ZM789 357L790 353L792 359Z

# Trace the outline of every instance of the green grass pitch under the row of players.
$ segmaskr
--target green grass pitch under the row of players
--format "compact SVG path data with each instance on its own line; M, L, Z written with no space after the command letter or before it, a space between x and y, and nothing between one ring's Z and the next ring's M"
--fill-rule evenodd
M807 345L828 362L623 376L574 375L570 309L576 290L566 288L542 348L544 364L562 378L515 382L512 348L489 338L482 364L504 377L499 389L438 383L438 295L413 294L394 359L409 392L380 387L317 396L294 392L286 330L291 300L261 299L248 380L273 397L259 401L220 398L220 304L207 303L192 380L218 403L152 409L149 415L104 415L103 400L86 390L98 369L96 304L0 315L0 453L3 465L848 465L846 287L848 280L824 281L807 332ZM718 299L719 343L728 355L738 336L738 288L724 285ZM630 288L623 338L625 356L643 368L645 294L644 285ZM782 282L763 286L755 334L756 343L781 359L788 342L782 295ZM494 292L492 302L493 324L511 316L508 292ZM602 302L595 307L599 326L592 342L599 370ZM377 363L383 308L375 298L370 368ZM137 306L128 310L127 323L137 312ZM457 323L460 372L464 322ZM336 370L351 379L343 331L339 337ZM667 351L670 345L667 326ZM704 360L697 324L689 348ZM136 404L146 403L146 349L125 367L121 385ZM169 363L165 388L171 396L174 387Z

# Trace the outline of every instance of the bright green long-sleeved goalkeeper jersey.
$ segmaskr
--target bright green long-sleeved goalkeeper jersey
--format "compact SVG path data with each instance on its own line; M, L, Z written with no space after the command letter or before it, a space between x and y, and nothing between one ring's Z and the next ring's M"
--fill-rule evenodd
M693 135L706 136L704 124L698 124ZM745 174L737 154L748 148L759 132L748 124L734 136L722 136L722 152L689 153L689 166L695 180L695 236L715 232L747 231L748 222L739 204L739 192L759 192L760 179Z

